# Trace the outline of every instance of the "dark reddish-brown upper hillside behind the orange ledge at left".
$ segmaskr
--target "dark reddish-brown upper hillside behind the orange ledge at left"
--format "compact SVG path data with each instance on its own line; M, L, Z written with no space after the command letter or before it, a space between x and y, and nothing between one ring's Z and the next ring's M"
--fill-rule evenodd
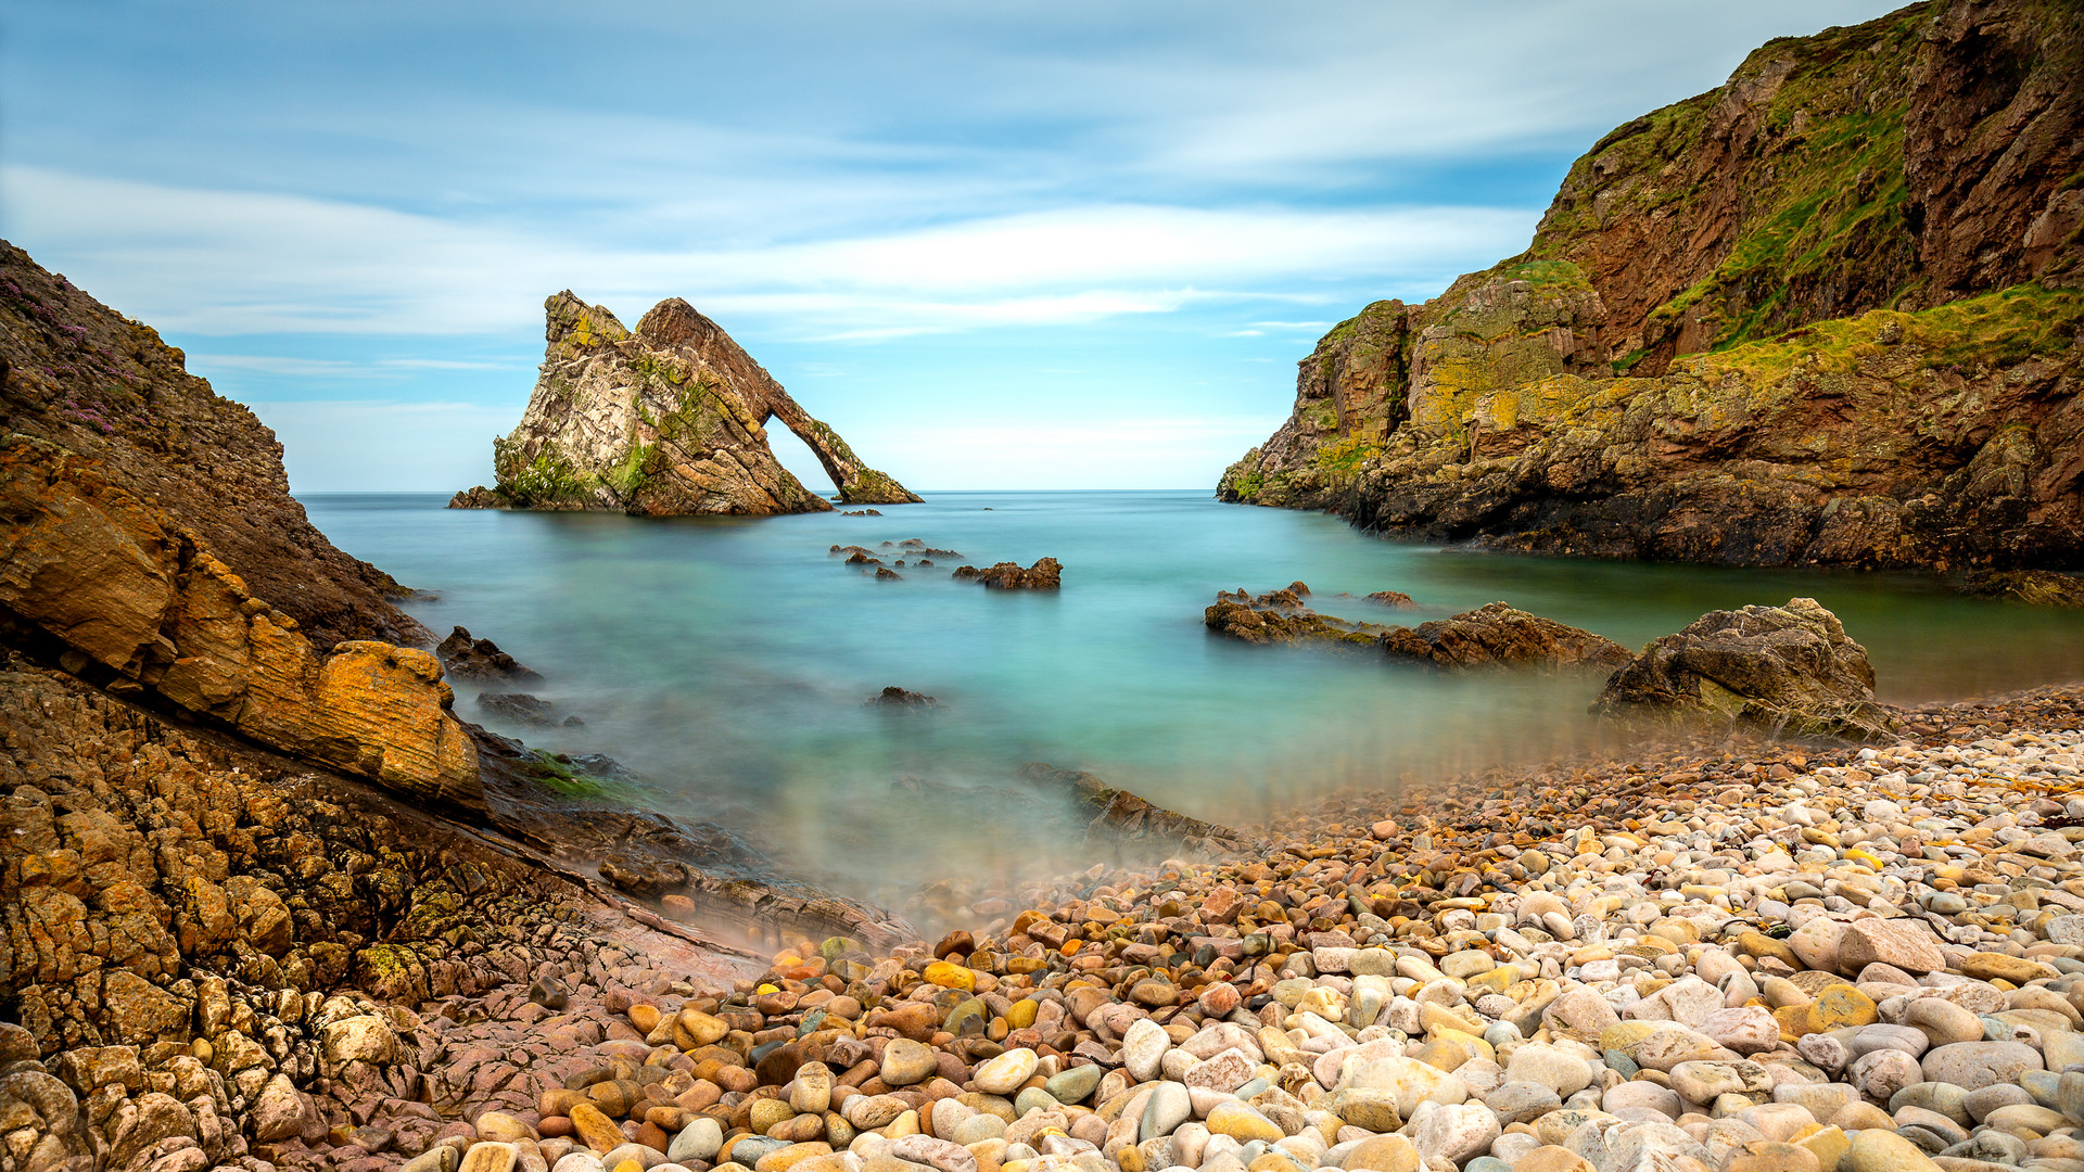
M348 638L433 642L390 573L325 540L290 496L281 444L183 369L150 325L0 240L0 432L79 453L194 530L321 651Z

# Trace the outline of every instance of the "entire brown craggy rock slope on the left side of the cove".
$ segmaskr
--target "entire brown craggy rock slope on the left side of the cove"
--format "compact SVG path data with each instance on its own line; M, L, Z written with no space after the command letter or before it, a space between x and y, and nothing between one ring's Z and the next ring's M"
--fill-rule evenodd
M250 413L19 250L0 269L0 1166L417 1155L436 1107L542 1089L417 1005L579 978L598 1014L667 968L727 982L777 930L909 934L636 807L611 761L458 722L436 655L361 638L431 642Z

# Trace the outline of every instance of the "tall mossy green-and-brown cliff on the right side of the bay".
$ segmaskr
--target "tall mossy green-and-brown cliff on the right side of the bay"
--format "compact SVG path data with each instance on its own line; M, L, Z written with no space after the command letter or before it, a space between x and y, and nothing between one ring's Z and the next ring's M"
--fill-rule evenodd
M1300 363L1225 500L1730 565L2084 561L2084 13L1778 40Z

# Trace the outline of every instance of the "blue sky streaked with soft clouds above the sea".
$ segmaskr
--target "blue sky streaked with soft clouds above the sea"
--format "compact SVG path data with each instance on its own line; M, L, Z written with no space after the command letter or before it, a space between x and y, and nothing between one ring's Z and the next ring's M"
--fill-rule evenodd
M488 482L563 288L688 298L913 488L1213 488L1330 325L1892 6L0 0L0 236L298 492Z

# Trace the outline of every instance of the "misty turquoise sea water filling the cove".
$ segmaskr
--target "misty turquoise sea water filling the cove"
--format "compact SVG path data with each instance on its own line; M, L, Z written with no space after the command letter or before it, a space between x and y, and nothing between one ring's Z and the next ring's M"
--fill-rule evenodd
M548 676L584 728L486 722L569 753L609 753L669 803L744 826L840 872L921 874L950 853L1050 855L963 803L892 799L892 780L1002 784L1021 761L1090 770L1161 805L1248 824L1342 786L1384 786L1611 736L1584 713L1598 680L1442 676L1373 655L1209 636L1217 590L1302 580L1342 617L1419 621L1496 599L1628 646L1703 611L1836 611L1892 701L2076 678L2084 615L1969 601L1919 576L1732 571L1498 557L1388 542L1328 515L1207 492L938 492L882 517L644 521L448 511L431 494L306 496L344 551L438 601ZM954 559L877 582L832 544L923 538L961 561L1063 561L1061 592L952 582ZM896 551L886 551L886 561ZM1421 611L1338 592L1405 590ZM886 684L932 713L863 707ZM890 857L882 857L882 855ZM1009 863L1011 865L1011 863Z

